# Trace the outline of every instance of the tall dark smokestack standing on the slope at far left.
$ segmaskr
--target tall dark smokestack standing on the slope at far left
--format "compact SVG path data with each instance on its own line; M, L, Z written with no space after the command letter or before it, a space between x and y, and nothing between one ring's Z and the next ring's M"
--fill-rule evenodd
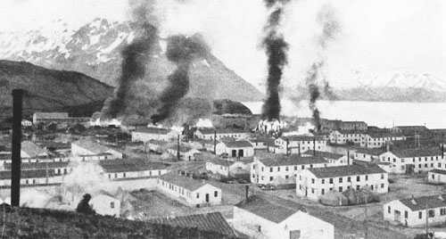
M11 206L19 207L21 200L21 103L23 90L12 90L12 169Z

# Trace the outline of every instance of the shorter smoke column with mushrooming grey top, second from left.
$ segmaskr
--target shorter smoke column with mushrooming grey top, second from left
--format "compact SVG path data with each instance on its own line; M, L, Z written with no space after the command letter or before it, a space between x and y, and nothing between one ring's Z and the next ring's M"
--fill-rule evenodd
M166 55L170 62L177 64L177 69L168 77L168 87L161 93L161 103L157 114L152 116L153 123L169 118L175 107L189 91L189 67L194 59L205 57L209 47L202 37L183 35L169 37Z

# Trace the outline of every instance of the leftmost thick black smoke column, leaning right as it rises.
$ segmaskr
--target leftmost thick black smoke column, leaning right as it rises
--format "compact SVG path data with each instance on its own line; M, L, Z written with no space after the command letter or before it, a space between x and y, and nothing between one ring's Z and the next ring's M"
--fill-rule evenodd
M139 78L145 77L145 64L149 60L156 29L148 24L147 4L135 3L133 15L136 23L142 26L142 33L122 51L121 75L113 98L103 106L101 118L115 119L127 109L131 87Z

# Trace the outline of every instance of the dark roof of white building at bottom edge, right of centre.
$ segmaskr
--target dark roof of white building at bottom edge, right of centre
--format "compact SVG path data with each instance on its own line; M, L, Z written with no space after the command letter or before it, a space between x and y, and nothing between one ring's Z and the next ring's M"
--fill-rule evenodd
M299 210L305 211L303 206L299 210L288 209L277 204L268 202L258 195L252 195L248 198L247 202L239 202L235 204L235 207L243 210L247 210L261 218L265 218L269 221L280 223L286 218L291 217Z

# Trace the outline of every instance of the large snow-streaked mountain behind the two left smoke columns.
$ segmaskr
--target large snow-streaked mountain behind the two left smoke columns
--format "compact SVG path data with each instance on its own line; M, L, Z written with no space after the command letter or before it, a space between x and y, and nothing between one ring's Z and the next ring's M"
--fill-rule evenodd
M45 28L28 32L0 32L0 59L79 71L116 86L120 76L120 52L139 34L141 29L131 21L95 19L80 28L54 21ZM147 66L147 78L161 86L175 69L164 55L166 45L165 40L158 38ZM258 101L263 97L211 53L206 59L194 62L190 76L188 96L235 101Z

